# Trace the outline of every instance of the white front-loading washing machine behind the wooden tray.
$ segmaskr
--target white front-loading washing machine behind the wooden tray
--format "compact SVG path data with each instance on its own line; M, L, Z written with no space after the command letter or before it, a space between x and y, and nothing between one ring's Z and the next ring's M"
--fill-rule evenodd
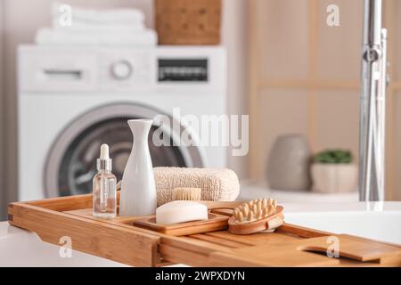
M221 46L21 45L18 90L20 200L91 192L102 143L120 179L133 141L129 118L167 118L170 143L151 139L161 126L149 135L154 167L226 167L226 146L180 143L184 133L200 137L185 116L226 113Z

